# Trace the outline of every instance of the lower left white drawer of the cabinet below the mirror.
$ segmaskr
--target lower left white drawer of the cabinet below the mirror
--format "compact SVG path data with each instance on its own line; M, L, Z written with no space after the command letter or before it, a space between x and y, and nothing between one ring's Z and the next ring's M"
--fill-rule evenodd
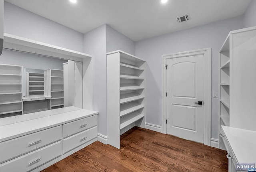
M62 155L62 141L0 164L1 172L27 172Z

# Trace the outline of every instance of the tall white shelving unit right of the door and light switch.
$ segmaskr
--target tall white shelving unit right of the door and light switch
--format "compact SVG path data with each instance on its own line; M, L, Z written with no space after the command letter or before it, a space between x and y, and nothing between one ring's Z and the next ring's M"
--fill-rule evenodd
M256 27L228 34L219 55L220 125L256 131L255 56Z

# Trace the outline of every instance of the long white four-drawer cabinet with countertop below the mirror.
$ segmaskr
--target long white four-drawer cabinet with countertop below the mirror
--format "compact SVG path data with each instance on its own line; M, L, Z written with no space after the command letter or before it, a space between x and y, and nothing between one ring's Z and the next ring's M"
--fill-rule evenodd
M4 119L7 123L0 126L0 171L39 172L95 142L98 112L75 109L31 113L25 115L28 121L20 117ZM38 118L33 119L34 116Z

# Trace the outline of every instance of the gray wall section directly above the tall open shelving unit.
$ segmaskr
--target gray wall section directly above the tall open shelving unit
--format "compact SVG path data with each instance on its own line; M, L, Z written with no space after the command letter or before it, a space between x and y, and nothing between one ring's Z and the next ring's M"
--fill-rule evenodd
M107 52L122 50L135 55L135 42L106 24Z

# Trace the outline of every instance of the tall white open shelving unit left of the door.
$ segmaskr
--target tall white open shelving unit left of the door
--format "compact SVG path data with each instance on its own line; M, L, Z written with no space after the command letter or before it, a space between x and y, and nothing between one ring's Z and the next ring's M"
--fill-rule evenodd
M120 148L120 135L145 127L145 61L124 51L107 53L108 144Z

